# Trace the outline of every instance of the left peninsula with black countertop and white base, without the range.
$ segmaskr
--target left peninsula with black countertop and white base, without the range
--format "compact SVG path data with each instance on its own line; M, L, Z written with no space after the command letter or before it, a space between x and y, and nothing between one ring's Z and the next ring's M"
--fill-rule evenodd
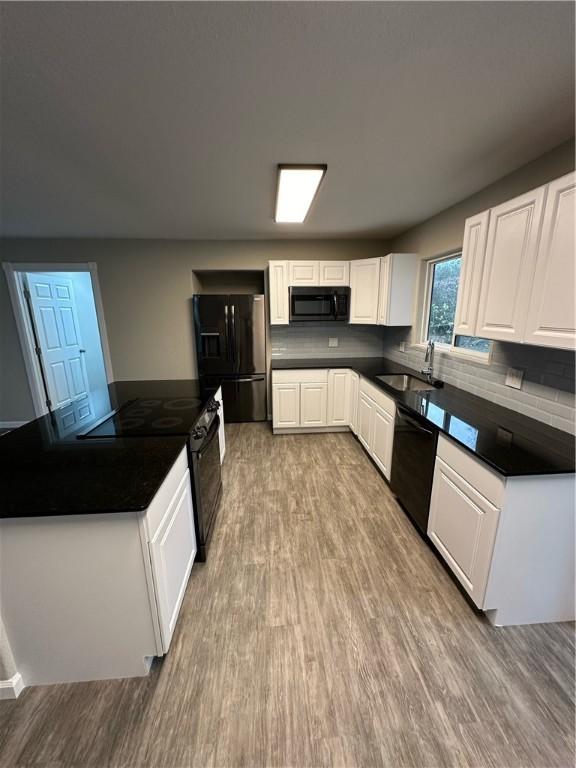
M192 380L118 382L109 405L168 397L202 408L213 394ZM0 439L0 599L15 692L144 675L170 647L197 550L188 438L85 439L106 416L70 432L55 412Z

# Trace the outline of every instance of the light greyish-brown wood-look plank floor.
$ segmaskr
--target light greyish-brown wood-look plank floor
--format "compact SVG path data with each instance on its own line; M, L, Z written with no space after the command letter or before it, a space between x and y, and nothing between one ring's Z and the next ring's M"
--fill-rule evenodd
M2 702L2 766L573 765L571 624L490 627L351 435L227 436L166 659Z

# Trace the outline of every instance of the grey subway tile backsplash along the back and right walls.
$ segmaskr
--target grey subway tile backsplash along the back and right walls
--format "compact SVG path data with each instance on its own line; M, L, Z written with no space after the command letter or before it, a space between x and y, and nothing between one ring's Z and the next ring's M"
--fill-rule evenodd
M338 339L329 347L328 339ZM369 325L272 326L272 356L298 357L387 357L409 368L420 370L424 352L409 346L410 328L384 328ZM399 344L406 342L406 352ZM518 411L545 424L576 433L573 352L493 342L490 364L436 352L436 376L483 397L492 403ZM522 389L504 383L508 368L524 371Z

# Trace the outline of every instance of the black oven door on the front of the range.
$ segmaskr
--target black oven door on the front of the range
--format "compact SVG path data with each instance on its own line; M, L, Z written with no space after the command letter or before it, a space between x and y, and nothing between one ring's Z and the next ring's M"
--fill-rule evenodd
M222 490L219 427L220 418L216 416L200 448L192 453L194 514L198 537L197 559L200 561L206 559L206 545L212 534Z

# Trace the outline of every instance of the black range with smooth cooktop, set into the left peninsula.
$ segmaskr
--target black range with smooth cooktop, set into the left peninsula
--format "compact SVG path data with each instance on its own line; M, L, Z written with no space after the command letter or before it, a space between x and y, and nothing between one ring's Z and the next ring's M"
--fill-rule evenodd
M212 397L139 397L78 435L82 440L187 435L194 502L196 560L204 562L222 490L218 429L220 404Z

